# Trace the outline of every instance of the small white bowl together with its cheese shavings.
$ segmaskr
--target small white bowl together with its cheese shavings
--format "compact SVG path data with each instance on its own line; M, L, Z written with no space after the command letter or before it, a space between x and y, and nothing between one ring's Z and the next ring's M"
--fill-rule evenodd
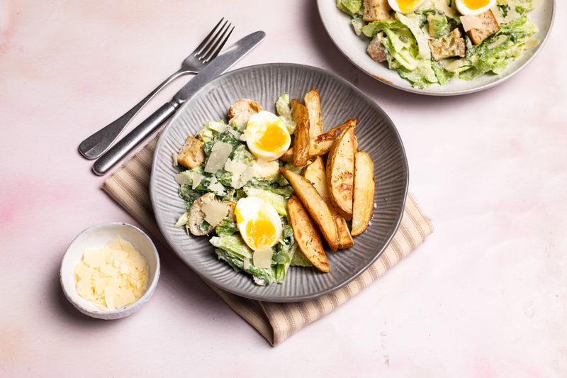
M138 311L159 279L159 255L140 228L111 222L74 238L60 269L63 293L77 310L112 320Z

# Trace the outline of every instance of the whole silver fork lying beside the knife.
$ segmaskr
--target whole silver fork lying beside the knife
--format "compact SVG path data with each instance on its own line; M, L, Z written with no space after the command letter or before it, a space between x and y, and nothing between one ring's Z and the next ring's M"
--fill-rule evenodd
M128 126L132 118L134 118L140 109L142 109L157 92L161 91L167 84L184 74L197 74L199 71L203 70L211 60L215 59L220 50L223 49L230 34L232 34L232 30L235 28L228 20L223 23L224 20L225 18L221 18L220 21L218 21L213 30L210 30L210 33L208 33L203 42L201 42L201 45L198 45L198 47L181 62L181 68L177 72L165 79L162 84L159 84L156 89L145 96L142 101L137 103L123 116L83 140L79 145L81 155L89 160L96 159L102 155L103 152L114 143L118 135L122 133L122 130Z

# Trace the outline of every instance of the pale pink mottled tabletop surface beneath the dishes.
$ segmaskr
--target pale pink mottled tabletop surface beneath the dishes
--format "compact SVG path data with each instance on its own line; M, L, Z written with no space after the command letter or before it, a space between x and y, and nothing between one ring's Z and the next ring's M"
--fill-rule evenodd
M310 0L0 1L0 376L566 377L566 13L558 1L546 47L509 82L432 98L359 72ZM268 35L238 67L323 67L380 104L437 229L278 348L164 249L152 301L121 321L81 316L57 279L80 230L135 223L78 143L176 70L220 16L235 38Z

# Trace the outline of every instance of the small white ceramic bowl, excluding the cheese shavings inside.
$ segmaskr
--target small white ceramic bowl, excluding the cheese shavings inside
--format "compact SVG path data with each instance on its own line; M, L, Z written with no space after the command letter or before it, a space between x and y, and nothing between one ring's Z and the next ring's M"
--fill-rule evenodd
M103 248L116 235L120 235L124 240L132 243L145 257L150 277L147 290L140 299L123 308L103 311L77 294L74 271L77 264L82 260L85 250ZM79 311L93 318L111 320L132 315L150 300L152 294L154 294L157 279L159 279L159 255L157 255L154 243L144 231L128 223L102 223L83 230L71 242L61 262L60 281L65 296Z

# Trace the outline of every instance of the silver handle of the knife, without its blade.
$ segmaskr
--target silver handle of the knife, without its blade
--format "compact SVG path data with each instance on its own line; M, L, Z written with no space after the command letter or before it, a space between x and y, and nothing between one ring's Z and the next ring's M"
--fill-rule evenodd
M113 145L111 149L104 152L93 165L93 172L102 176L108 169L111 169L117 162L123 159L128 152L132 151L137 145L145 140L159 126L173 116L179 104L171 101L157 109L155 113L146 118L145 121L136 126L136 128L128 133L124 138Z

